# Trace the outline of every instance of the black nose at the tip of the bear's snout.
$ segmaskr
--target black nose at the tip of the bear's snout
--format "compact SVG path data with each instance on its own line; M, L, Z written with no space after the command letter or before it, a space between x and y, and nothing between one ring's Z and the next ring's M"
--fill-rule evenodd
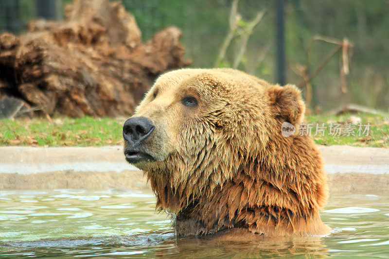
M124 122L123 137L128 142L138 143L150 136L154 130L153 122L144 117L130 118Z

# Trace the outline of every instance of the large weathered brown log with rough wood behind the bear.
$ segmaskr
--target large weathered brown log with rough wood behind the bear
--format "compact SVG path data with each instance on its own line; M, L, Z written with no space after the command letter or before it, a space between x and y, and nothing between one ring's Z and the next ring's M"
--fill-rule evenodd
M20 99L35 114L128 115L160 73L190 64L177 28L142 43L120 2L74 0L65 14L0 35L0 99Z

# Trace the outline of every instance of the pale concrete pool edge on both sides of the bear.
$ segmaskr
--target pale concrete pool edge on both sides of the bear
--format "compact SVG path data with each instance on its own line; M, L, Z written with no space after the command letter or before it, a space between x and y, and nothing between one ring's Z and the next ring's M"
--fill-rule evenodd
M389 193L389 149L319 146L331 193ZM0 147L0 190L148 189L121 146Z

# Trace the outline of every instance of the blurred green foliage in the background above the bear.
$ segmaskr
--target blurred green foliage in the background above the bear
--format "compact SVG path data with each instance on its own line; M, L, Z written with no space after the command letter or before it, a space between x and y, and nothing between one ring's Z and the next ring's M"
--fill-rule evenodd
M71 0L63 0L64 3ZM167 27L183 32L182 43L192 67L212 67L229 31L232 0L122 0L141 29L143 40ZM20 0L21 17L33 17L34 1ZM266 14L248 40L239 69L275 83L275 1L240 0L238 12L251 20L260 10ZM340 91L338 53L318 74L312 84L313 107L323 110L341 104L356 103L388 111L389 106L389 1L388 0L285 0L285 47L287 82L297 84L297 64L305 64L307 45L314 35L343 39L354 43L348 76L348 93ZM232 41L224 63L230 66L238 52ZM309 71L332 51L333 44L315 42ZM305 94L305 87L302 87Z

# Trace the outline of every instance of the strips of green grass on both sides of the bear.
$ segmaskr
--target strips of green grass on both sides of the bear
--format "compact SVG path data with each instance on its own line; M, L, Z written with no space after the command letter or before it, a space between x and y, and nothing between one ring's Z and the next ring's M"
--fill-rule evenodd
M320 145L350 145L389 148L389 119L380 115L357 114L308 115L306 123L311 136ZM359 122L359 121L360 122ZM67 118L57 117L0 121L1 146L104 146L122 145L122 127L125 118ZM324 136L317 125L324 123ZM330 125L341 129L340 136L330 134ZM355 123L354 136L347 136L347 123ZM358 124L370 124L369 136L359 136ZM363 127L363 129L365 129ZM315 136L316 135L316 136ZM346 135L346 136L342 136Z

